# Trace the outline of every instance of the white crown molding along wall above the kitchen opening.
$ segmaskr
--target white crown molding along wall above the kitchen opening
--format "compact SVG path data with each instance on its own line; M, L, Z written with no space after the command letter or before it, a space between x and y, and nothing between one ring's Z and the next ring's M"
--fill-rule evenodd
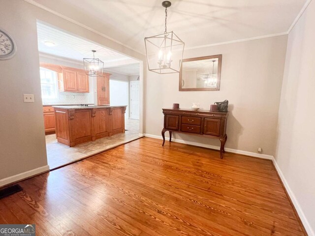
M44 5L42 5L42 4L39 4L38 2L36 2L34 0L24 0L24 1L30 3L30 4L32 4L34 6L37 6L37 7L41 8L41 9L43 9L45 11L48 11L48 12L50 12L50 13L56 15L56 16L59 16L59 17L63 18L64 20L69 21L69 22L71 22L71 23L73 23L73 24L75 24L77 26L80 26L80 27L82 27L84 29L88 29L88 30L90 30L90 31L92 31L92 32L94 32L94 33L104 37L104 38L107 38L107 39L109 39L109 40L111 40L111 41L113 41L115 43L118 43L118 44L120 44L120 45L122 45L122 46L124 46L124 47L126 47L126 48L128 48L128 49L130 49L130 50L132 50L134 52L136 52L136 53L139 53L139 54L145 56L144 53L142 53L142 52L140 52L138 50L135 50L134 48L132 48L132 47L130 47L130 46L128 46L128 45L126 45L126 44L124 44L124 43L122 43L122 42L120 42L120 41L118 41L118 40L116 40L116 39L114 39L112 37L109 37L109 36L107 36L104 33L101 33L101 32L99 32L99 31L97 31L95 29L92 29L91 27L88 27L88 26L86 26L86 25L84 25L84 24L82 24L80 22L77 22L77 21L75 21L75 20L73 20L73 19L71 19L71 18L69 18L69 17L67 17L67 16L65 16L65 15L63 15L61 13L58 13L58 12L56 12L56 11L54 11L54 10L44 6Z

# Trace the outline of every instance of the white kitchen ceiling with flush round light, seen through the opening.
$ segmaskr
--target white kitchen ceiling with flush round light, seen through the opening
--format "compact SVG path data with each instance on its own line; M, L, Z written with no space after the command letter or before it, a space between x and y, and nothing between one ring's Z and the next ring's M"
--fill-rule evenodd
M125 55L109 50L103 46L63 32L59 29L49 27L47 25L37 23L38 51L57 57L78 60L83 63L83 58L92 58L91 50L96 50L95 58L101 59L103 62L119 62L132 60ZM55 46L48 47L45 41L55 43ZM137 62L136 60L133 61Z

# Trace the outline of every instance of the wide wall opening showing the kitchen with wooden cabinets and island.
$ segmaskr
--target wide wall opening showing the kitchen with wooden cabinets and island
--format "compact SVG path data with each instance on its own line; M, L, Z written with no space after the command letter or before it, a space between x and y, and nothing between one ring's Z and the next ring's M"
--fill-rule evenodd
M37 22L37 36L46 149L51 170L141 137L141 117L130 117L130 85L134 84L134 80L139 84L141 61L42 22ZM83 58L91 57L91 50L96 51L95 58L104 62L101 77L85 73ZM139 114L140 106L134 105L134 102L140 102L140 94L139 91L135 93L132 86L132 115ZM65 111L72 109L71 114L74 114L64 116L64 122L71 124L67 126L68 133L62 133L62 122L56 116L60 107ZM122 109L121 113L115 111L117 107ZM83 111L82 108L88 115L76 115L76 111ZM97 113L97 109L103 112ZM105 119L106 116L108 118ZM76 118L80 125L74 130L72 126L78 122L71 119ZM120 120L117 121L117 118ZM96 119L98 124L95 124ZM114 126L118 128L114 130ZM112 128L113 132L107 132L108 128ZM95 135L102 129L100 135ZM61 134L71 136L69 139L74 146L59 142Z

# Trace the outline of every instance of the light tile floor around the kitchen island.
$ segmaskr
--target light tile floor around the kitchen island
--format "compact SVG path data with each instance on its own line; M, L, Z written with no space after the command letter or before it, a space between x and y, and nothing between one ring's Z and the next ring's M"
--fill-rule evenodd
M72 148L57 143L56 134L46 135L47 159L50 170L86 158L104 150L125 144L139 137L139 120L126 119L125 133L96 139Z

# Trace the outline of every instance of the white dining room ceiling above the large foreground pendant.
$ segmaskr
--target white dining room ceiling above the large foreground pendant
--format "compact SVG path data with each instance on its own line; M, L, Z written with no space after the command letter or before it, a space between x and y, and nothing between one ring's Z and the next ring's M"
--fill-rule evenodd
M162 0L26 0L145 52L164 31ZM186 48L287 32L306 0L171 0L167 27Z

